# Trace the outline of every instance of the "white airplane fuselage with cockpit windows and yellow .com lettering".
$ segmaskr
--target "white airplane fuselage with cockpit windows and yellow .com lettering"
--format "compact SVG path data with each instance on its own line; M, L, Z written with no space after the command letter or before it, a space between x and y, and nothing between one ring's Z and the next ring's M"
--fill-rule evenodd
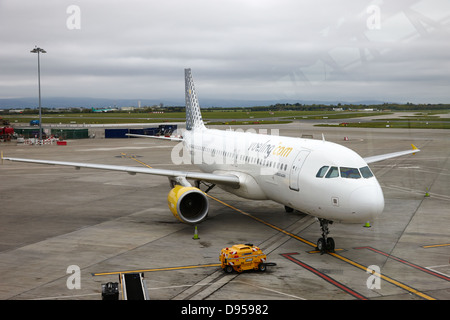
M383 211L383 193L367 163L332 142L202 128L184 133L184 147L203 172L238 176L239 188L219 186L243 198L345 223L367 222Z

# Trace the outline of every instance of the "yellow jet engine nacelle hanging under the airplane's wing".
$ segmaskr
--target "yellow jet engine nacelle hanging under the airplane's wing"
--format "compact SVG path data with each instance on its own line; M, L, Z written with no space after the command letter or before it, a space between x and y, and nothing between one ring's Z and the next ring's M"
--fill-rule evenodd
M198 188L176 185L170 190L167 203L173 215L184 223L199 223L208 215L208 198Z

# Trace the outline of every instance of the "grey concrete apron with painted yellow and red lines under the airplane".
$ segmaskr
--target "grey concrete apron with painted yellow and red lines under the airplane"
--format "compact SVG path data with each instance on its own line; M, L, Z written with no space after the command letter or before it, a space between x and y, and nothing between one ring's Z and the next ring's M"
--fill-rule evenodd
M0 299L101 300L102 283L137 270L144 272L152 300L450 299L447 131L299 122L252 128L315 139L323 134L362 156L405 150L411 143L421 152L371 166L384 192L384 213L370 228L331 225L337 250L323 255L314 248L318 222L271 201L214 188L209 219L198 225L194 240L194 228L167 207L167 178L5 162ZM11 157L195 170L172 164L175 145L98 138L67 146L4 143L0 149ZM265 273L224 274L220 250L237 243L258 245L276 266ZM73 288L71 266L80 270L79 288Z

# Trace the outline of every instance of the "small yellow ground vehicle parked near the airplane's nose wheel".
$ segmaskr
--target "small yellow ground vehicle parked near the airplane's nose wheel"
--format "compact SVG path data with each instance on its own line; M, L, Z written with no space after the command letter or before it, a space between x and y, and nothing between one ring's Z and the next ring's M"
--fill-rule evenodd
M219 256L221 267L226 273L244 270L266 271L267 257L260 248L252 244L235 244L230 248L223 248Z

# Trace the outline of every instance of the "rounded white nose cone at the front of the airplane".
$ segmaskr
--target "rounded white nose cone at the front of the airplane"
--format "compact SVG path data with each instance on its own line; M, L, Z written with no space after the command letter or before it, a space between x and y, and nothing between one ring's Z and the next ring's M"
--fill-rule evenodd
M352 213L364 220L371 220L384 209L384 197L379 185L364 186L356 189L350 196Z

